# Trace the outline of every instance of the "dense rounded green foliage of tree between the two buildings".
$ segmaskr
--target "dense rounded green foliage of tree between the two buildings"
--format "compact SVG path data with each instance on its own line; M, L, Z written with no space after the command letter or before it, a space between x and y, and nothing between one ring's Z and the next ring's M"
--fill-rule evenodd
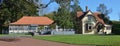
M73 26L70 12L65 8L59 8L54 18L57 25L61 28L72 28Z

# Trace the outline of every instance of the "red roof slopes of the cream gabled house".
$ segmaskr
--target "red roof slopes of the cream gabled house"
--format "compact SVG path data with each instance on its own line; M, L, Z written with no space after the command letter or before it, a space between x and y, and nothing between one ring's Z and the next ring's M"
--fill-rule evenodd
M82 19L88 12L89 11L87 11L87 12L77 12L77 17ZM101 24L105 25L103 19L100 18L100 14L101 14L100 12L93 12L92 14L96 18L97 23L101 23Z

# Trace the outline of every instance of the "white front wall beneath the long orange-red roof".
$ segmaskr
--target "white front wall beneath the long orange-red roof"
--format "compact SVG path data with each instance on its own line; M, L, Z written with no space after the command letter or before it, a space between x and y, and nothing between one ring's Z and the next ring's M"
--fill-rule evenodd
M10 25L9 26L9 34L11 33L28 33L28 32L37 32L38 27L35 27L35 30L31 30L30 26L25 26L25 25L21 25L21 26L13 26Z

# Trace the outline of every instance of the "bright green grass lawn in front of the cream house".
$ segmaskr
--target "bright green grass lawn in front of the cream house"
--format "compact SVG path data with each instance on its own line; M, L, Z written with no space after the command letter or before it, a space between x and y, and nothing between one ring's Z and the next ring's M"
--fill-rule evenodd
M33 38L77 45L120 46L119 35L51 35Z

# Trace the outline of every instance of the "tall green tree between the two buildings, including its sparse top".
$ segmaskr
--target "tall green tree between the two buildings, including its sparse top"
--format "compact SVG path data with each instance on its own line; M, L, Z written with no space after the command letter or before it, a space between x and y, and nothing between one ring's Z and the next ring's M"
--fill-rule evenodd
M55 0L60 5L55 14L55 22L61 28L73 28L72 17L70 15L70 2L71 0Z

